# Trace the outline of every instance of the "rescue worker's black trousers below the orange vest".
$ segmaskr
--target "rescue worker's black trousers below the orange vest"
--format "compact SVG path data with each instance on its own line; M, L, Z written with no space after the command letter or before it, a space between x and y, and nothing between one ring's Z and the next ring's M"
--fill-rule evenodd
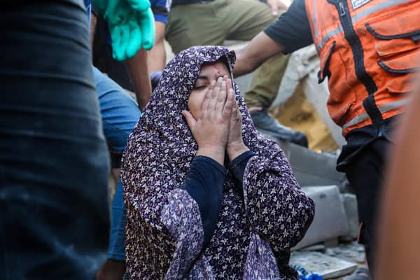
M356 192L360 221L359 241L365 244L367 264L373 271L377 210L379 207L384 162L390 141L381 137L360 151L346 167L347 179Z

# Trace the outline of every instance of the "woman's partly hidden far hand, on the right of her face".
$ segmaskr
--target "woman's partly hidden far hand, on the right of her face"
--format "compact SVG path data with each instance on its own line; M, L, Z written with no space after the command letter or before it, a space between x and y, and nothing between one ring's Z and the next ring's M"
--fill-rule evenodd
M232 89L232 80L225 77L228 93L235 96L234 90ZM234 160L238 155L249 151L248 147L245 146L242 139L242 116L239 112L237 102L233 105L232 114L230 115L229 125L229 137L228 143L226 144L226 153L230 161Z

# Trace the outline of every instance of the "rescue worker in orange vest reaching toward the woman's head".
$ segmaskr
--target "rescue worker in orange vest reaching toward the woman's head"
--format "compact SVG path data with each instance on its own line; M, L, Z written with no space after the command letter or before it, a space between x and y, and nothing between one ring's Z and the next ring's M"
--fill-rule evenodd
M356 191L370 267L386 150L420 65L419 16L419 0L295 0L238 52L234 69L240 76L280 52L316 45L328 111L347 141L337 170Z

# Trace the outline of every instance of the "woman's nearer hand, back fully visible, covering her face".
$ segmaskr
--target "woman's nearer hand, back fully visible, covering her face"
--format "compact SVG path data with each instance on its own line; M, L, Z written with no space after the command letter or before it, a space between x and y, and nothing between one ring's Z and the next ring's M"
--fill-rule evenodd
M227 92L226 81L218 78L217 83L212 83L207 91L198 120L190 112L182 111L197 141L197 155L206 155L223 165L234 105L235 95Z

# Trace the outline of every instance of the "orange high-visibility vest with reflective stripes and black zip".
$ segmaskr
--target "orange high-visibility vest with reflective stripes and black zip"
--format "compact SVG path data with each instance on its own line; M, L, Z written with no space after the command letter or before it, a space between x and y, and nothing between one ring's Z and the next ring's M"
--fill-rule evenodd
M420 69L420 0L305 0L328 111L351 130L402 113Z

